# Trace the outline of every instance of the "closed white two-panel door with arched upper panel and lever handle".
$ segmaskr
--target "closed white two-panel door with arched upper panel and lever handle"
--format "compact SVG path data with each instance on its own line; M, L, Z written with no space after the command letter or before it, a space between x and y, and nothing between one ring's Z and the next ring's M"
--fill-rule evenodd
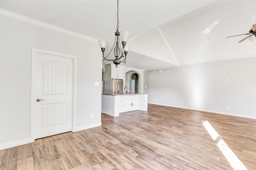
M33 137L71 131L74 60L50 53L34 54Z

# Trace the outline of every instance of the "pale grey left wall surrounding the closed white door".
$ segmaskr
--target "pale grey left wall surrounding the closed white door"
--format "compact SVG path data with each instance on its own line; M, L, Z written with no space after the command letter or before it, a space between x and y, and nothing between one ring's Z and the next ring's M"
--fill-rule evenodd
M102 54L98 44L7 16L0 19L0 148L30 138L32 47L77 56L76 130L101 125ZM90 114L94 114L92 119Z

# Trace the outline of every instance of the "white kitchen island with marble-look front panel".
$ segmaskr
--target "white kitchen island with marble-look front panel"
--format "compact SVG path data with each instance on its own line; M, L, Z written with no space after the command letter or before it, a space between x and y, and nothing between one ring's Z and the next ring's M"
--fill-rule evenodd
M136 110L148 110L148 94L102 94L102 113L117 117L119 113Z

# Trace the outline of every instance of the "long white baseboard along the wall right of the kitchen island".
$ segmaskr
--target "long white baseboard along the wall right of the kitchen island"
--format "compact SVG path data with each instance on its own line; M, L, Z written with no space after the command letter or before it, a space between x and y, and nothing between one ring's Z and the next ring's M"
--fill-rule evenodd
M217 113L217 114L222 114L222 115L229 115L229 116L236 116L236 117L244 117L244 118L256 119L256 116L240 115L240 114L236 114L236 113L211 111L211 110L206 110L206 109L197 109L197 108L192 108L192 107L166 105L166 104L161 104L161 103L151 103L151 102L148 102L148 104L160 105L160 106L168 106L168 107L177 107L177 108L181 108L181 109L190 109L190 110L194 110L194 111L203 111L203 112Z

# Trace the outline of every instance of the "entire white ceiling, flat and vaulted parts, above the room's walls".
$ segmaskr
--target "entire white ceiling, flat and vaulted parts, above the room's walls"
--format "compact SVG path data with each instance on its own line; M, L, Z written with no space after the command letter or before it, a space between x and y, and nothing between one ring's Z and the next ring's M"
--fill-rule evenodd
M0 5L114 43L116 0L1 0ZM119 30L130 32L131 45L123 65L151 70L255 57L255 43L237 43L246 36L226 38L248 33L255 22L255 0L120 0Z

